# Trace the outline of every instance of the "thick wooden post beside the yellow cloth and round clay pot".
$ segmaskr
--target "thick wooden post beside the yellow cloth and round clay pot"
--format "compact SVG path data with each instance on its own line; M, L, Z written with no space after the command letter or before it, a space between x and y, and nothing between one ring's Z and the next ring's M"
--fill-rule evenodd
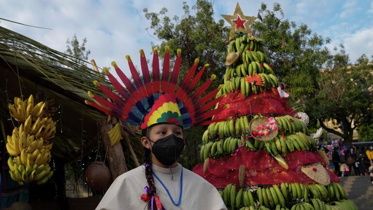
M128 171L126 165L126 158L123 154L123 148L120 143L114 146L110 145L110 138L107 132L111 129L111 123L106 120L101 120L99 123L102 143L106 150L106 158L108 159L111 177L115 180L119 175Z

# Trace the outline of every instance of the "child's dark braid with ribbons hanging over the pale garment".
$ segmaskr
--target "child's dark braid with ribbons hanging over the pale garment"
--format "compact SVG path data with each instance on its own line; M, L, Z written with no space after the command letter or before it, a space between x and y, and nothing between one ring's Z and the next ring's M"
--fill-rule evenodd
M150 128L142 130L141 131L142 136L150 139L149 138L149 130L150 130ZM148 181L150 193L151 193L152 196L154 196L157 191L156 191L155 185L154 185L151 151L150 151L150 149L145 148L145 147L144 147L144 162L145 162L146 180ZM152 200L150 200L148 202L148 210L152 210L151 202L152 202ZM154 203L153 207L154 207L154 210L156 210L155 203Z

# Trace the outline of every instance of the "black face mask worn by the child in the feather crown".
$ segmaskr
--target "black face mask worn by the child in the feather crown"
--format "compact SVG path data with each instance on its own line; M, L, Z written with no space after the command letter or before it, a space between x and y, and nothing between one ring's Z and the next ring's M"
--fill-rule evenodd
M184 149L184 140L174 134L152 142L154 143L152 153L159 162L167 166L175 163Z

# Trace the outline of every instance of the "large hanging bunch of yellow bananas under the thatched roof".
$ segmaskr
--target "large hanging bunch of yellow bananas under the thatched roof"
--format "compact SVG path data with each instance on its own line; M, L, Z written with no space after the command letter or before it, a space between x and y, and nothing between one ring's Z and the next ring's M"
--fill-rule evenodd
M22 122L13 129L11 136L7 136L5 145L13 156L7 161L9 174L19 184L31 181L44 184L53 175L49 166L51 139L56 132L56 122L50 118L56 111L50 107L53 103L54 100L50 100L34 106L34 97L30 95L25 101L16 97L15 104L9 105L11 116Z

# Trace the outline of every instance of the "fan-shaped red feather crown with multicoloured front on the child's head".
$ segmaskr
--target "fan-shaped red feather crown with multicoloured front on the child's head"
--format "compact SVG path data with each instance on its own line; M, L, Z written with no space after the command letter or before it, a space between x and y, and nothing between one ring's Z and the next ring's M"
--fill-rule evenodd
M107 68L103 68L119 95L101 85L99 82L94 81L93 83L108 98L110 98L112 102L88 92L88 95L92 97L95 103L90 101L85 101L85 103L96 107L108 115L116 116L121 121L128 124L134 126L140 125L141 129L145 129L156 123L176 124L183 126L184 129L212 123L212 121L208 121L207 119L229 106L226 105L208 111L208 109L216 105L221 98L224 97L224 95L222 95L213 99L219 92L220 88L222 88L221 86L200 97L211 85L216 76L213 74L209 80L204 82L200 88L193 92L198 81L201 79L203 71L208 66L208 64L205 64L194 76L199 62L199 59L196 59L193 66L188 70L186 76L181 81L180 86L177 87L176 83L180 70L181 50L177 50L175 65L173 66L171 78L169 79L169 49L170 48L166 46L162 78L160 77L159 70L158 48L154 48L153 50L152 80L144 51L140 50L142 78L137 73L129 55L127 55L126 58L130 67L131 75L134 79L134 84L113 61L111 64L117 72L120 80L125 85L125 88L120 85L118 80Z

